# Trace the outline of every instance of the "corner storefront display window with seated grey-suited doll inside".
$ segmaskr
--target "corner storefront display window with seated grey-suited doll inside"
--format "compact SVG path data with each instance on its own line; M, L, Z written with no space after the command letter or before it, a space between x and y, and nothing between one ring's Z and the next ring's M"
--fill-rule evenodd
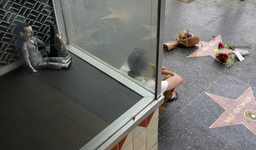
M0 1L0 149L98 147L151 104L158 11L156 0Z

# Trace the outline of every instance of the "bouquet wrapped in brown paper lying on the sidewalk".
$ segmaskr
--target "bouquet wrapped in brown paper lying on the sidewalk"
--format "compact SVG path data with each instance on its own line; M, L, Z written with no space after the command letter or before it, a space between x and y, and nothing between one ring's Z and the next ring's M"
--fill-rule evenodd
M191 47L199 43L199 37L193 37L192 33L188 30L180 30L176 41L164 43L164 50L168 51L172 49L175 45L181 45L184 47Z

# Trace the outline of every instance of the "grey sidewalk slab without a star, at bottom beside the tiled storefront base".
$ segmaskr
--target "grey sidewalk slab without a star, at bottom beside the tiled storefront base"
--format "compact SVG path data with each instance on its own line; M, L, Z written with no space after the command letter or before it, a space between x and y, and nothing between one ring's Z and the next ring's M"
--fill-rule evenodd
M158 129L158 143L161 150L242 149L182 112Z

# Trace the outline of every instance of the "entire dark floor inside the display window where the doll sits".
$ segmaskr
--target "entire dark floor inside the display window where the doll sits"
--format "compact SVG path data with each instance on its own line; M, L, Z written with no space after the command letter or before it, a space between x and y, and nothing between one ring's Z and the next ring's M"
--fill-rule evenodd
M77 56L0 77L0 149L80 149L142 97Z

